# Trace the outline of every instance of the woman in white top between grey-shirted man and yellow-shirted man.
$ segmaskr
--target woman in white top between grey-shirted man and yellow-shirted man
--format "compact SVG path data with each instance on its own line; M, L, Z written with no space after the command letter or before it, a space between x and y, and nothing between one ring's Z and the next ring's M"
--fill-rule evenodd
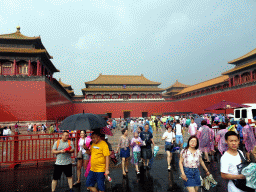
M86 131L82 130L80 132L80 139L78 141L78 151L82 153L82 157L77 158L77 181L74 183L74 186L81 185L81 168L83 166L86 170L90 158L90 156L86 153L85 145L88 143L87 140L89 139L91 141L91 139L86 137Z

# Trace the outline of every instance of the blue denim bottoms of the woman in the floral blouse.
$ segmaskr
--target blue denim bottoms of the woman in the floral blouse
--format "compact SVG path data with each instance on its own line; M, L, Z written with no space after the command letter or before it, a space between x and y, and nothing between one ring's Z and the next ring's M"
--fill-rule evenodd
M198 168L184 167L184 172L188 178L187 181L184 181L185 187L201 186L200 172Z

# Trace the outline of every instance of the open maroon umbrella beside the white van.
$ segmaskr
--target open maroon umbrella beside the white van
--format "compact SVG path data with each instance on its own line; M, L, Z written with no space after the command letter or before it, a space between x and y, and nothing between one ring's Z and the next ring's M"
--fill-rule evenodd
M227 109L246 108L246 107L250 107L250 106L223 100L219 103L216 103L216 104L206 108L205 111L225 110L225 115L226 115Z

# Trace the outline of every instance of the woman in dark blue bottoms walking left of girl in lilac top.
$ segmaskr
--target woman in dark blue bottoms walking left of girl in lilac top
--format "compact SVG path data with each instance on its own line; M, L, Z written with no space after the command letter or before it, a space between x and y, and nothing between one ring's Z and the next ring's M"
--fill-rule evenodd
M130 157L130 139L128 138L128 129L122 130L122 136L119 140L116 152L120 149L120 157L122 158L123 176L128 173L128 158Z

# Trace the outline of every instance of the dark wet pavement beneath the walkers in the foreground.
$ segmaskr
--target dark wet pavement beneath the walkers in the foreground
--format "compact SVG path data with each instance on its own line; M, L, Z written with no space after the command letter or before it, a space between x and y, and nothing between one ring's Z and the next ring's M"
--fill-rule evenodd
M218 158L219 159L219 158ZM0 169L0 191L51 191L51 180L53 175L54 162L40 163L35 165L21 165L17 169ZM212 161L206 164L214 179L218 182L217 186L210 189L210 192L227 191L227 182L220 177L219 161ZM167 171L166 155L159 154L155 157L152 168L144 170L140 167L141 174L137 176L134 166L129 165L129 173L123 178L121 165L110 164L110 177L112 182L106 181L107 192L162 192L162 191L185 191L183 181L179 179L180 171L178 168L178 154L174 154L172 161L172 171ZM205 173L200 169L201 176ZM84 171L82 171L82 174ZM76 166L73 166L73 178L76 179ZM86 191L86 179L82 176L81 186L74 188L75 192ZM58 181L56 192L68 190L67 179L62 174ZM200 189L199 191L204 191Z

